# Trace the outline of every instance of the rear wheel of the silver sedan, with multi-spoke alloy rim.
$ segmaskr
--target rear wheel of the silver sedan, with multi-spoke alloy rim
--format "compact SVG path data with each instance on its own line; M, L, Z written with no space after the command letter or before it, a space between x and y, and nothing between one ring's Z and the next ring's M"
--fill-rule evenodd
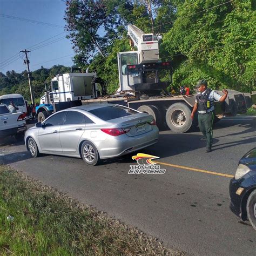
M82 158L87 165L97 165L99 163L99 153L96 146L91 142L85 141L81 147Z

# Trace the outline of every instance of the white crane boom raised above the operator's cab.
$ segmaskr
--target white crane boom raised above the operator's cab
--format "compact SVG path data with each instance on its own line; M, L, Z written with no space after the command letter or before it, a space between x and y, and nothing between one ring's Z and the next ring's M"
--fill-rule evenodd
M128 35L132 39L134 45L137 46L139 64L158 62L158 41L154 40L154 35L152 33L144 33L142 30L137 28L137 26L129 24Z

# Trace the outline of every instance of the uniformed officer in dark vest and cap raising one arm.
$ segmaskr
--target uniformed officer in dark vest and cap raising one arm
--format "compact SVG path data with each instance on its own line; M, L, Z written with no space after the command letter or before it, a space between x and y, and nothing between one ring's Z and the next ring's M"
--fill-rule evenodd
M224 95L219 95L218 92L207 87L205 79L199 80L196 85L198 89L196 103L194 104L191 119L198 110L198 126L206 139L206 152L212 151L212 125L214 119L214 105L213 102L224 102L227 98L228 91L223 90Z

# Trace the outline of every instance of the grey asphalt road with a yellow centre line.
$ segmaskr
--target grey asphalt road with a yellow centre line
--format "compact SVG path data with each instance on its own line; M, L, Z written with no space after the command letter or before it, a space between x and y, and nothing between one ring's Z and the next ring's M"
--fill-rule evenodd
M132 155L96 167L77 158L34 159L15 139L0 144L0 163L186 254L256 255L256 232L229 210L228 194L229 176L234 175L239 159L256 147L255 131L255 117L224 118L215 125L211 153L205 153L199 131L160 132L159 142L140 153L160 157L164 174L127 174L130 164L136 164Z

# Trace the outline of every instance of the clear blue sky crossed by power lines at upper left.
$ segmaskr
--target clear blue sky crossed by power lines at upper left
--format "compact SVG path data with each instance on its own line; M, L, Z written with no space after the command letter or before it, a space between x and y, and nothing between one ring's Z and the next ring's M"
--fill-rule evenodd
M59 27L65 26L65 8L63 0L0 0L0 72L15 70L20 73L25 70L24 56L18 55L24 49L32 50L29 53L31 71L41 68L41 65L44 68L55 64L71 66L75 53L70 40L63 38L66 35L64 28ZM14 16L57 26L25 22L14 19ZM49 45L41 47L46 43Z

